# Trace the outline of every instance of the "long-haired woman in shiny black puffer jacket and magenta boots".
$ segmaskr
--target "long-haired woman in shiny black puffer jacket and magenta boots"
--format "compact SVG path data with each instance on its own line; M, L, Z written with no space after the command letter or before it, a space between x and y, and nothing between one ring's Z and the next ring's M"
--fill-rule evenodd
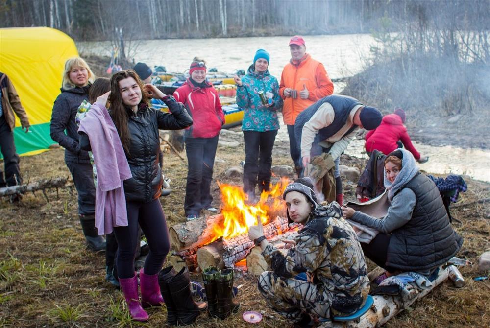
M134 254L138 224L147 237L149 253L140 272L143 305L163 302L158 273L170 250L165 214L158 197L163 184L160 170L159 129L179 130L193 121L184 105L165 95L151 84L141 82L134 70L123 70L111 78L111 92L98 97L106 103L110 94L110 115L117 128L132 178L124 180L127 226L114 226L118 241L118 278L133 319L146 321L148 315L138 297L138 280L134 272ZM148 97L162 99L169 107L165 113L148 106ZM80 134L80 143L88 148L88 137Z

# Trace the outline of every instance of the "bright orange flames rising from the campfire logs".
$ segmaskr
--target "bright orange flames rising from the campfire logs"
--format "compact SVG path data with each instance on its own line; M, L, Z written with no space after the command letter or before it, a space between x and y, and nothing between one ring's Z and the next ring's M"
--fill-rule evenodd
M268 213L277 211L284 207L282 194L289 184L288 178L282 178L280 182L270 188L270 191L263 191L257 204L246 204L248 196L242 187L231 186L218 183L221 189L221 214L223 215L223 225L216 225L214 232L217 237L232 238L239 234L248 232L248 228L258 224L260 218L262 224L270 222ZM269 196L272 202L268 202Z

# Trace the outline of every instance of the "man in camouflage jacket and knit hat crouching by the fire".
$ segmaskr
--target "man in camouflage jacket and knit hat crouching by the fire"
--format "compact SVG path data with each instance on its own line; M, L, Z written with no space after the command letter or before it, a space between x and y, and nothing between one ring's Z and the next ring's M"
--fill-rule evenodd
M272 269L258 281L266 302L296 327L311 327L316 317L356 312L368 297L369 279L357 235L343 220L341 207L319 205L309 178L289 184L283 198L288 219L303 225L287 255L262 238L260 223L248 232ZM307 281L294 279L303 272Z

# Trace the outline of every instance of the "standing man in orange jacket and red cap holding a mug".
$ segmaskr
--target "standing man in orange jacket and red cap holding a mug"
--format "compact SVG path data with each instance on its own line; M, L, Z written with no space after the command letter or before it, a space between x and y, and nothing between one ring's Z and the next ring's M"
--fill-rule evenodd
M291 158L299 177L302 170L301 154L294 138L294 122L306 107L333 94L334 84L323 65L306 53L302 37L292 37L289 49L291 60L282 71L279 94L284 99L282 115L284 124L288 127Z

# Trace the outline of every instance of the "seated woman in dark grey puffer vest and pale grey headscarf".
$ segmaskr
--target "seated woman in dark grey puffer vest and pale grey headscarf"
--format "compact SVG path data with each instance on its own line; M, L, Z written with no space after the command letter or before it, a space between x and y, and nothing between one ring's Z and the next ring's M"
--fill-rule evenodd
M429 274L456 255L463 239L453 231L438 188L419 172L413 155L404 149L385 160L385 187L391 206L383 219L351 208L344 216L378 230L364 254L390 274L416 271Z

